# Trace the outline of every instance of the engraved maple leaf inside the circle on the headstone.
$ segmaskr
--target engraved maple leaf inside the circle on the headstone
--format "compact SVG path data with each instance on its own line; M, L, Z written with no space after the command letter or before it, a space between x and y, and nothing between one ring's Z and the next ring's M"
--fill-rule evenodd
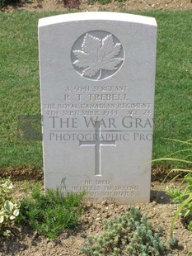
M114 43L113 36L105 36L102 40L96 36L86 34L82 43L82 50L73 50L77 68L82 69L82 76L91 78L98 73L101 79L102 70L117 70L124 59L118 58L121 50L120 43Z

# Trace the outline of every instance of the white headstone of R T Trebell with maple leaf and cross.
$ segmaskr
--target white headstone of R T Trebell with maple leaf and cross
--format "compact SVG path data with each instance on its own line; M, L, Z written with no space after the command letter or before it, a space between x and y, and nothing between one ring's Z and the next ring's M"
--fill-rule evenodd
M82 12L40 19L45 188L150 197L157 23Z

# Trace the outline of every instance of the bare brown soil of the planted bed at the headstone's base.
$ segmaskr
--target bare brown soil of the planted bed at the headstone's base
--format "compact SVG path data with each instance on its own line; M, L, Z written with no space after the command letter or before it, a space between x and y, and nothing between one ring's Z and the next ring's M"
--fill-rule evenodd
M17 181L14 195L21 199L24 195L24 187L35 181ZM43 182L42 182L43 184ZM43 186L43 185L42 185ZM165 192L166 184L158 181L152 182L151 201L137 204L143 214L152 221L154 229L162 225L165 230L163 239L170 239L171 220L176 212L177 205L172 204ZM117 206L103 201L101 204L85 204L82 219L76 230L68 230L59 235L56 240L50 240L38 235L26 226L12 227L12 236L0 241L0 255L18 256L76 256L84 255L80 251L86 237L100 235L103 231L102 220L113 219L125 211L129 206ZM186 229L181 219L176 221L174 234L179 239L179 245L173 251L173 255L186 255L192 248L192 232ZM122 255L123 256L123 255Z

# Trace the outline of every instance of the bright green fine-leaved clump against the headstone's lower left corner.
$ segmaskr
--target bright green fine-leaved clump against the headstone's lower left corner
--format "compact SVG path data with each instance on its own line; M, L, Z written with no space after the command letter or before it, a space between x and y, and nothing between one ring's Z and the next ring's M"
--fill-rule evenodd
M19 224L30 225L40 235L55 239L63 230L75 228L82 215L84 193L66 197L59 190L41 192L40 184L35 184L30 196L21 201Z

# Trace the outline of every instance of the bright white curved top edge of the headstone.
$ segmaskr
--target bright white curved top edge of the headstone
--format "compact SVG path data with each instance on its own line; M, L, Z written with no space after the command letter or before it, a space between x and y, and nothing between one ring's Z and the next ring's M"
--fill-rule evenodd
M40 28L42 26L70 21L128 21L149 26L157 26L157 21L154 17L121 12L76 12L41 18L38 27Z

